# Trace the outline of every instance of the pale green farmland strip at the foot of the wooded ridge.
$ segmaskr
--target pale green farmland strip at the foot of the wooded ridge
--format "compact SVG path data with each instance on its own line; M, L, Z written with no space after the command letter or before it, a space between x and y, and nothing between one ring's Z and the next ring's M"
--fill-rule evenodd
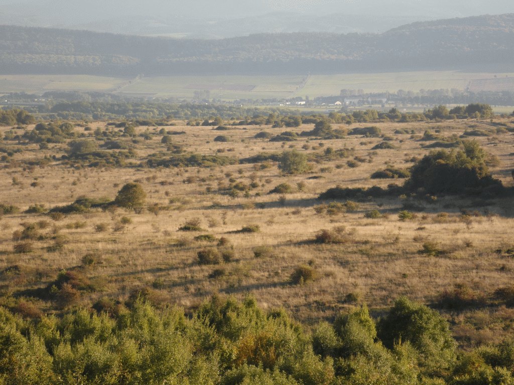
M496 76L496 78L495 78ZM193 98L195 91L209 91L209 99L270 99L338 95L341 89L364 92L419 91L420 89L507 89L513 73L425 71L309 76L159 76L136 79L86 75L0 75L0 93L48 90L109 91L148 97ZM485 81L488 80L488 81ZM499 88L500 87L500 88ZM505 88L504 87L504 88Z

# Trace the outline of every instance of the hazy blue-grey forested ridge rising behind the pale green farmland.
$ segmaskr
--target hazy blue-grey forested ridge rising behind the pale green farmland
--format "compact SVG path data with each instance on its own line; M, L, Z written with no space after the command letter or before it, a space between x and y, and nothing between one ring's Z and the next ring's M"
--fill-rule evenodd
M514 71L514 14L419 22L381 34L266 33L173 39L0 26L2 73L343 73Z

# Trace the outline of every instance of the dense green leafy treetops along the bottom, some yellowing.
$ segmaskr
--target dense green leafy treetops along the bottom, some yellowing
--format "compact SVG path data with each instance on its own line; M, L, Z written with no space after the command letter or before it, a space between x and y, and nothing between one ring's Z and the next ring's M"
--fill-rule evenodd
M457 354L448 324L400 298L377 324L363 306L312 334L254 299L217 297L190 317L135 301L24 320L0 308L2 384L511 384L514 343Z

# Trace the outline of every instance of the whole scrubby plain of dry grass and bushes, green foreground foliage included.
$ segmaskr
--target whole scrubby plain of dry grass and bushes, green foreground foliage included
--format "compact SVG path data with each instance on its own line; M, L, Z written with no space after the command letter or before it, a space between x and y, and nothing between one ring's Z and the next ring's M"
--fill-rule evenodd
M512 382L514 122L396 112L0 128L0 382Z

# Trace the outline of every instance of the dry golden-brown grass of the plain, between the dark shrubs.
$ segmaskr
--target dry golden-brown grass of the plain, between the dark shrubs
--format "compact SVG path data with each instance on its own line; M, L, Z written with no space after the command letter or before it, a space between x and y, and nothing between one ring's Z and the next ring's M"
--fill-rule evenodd
M508 120L502 123L514 127ZM476 299L478 304L447 313L454 335L464 346L498 340L513 331L514 314L510 307L488 302L495 290L512 284L514 259L495 252L514 246L511 198L448 196L438 197L432 203L410 202L405 197L366 199L354 209L338 213L320 209L323 202L317 199L321 192L336 185L386 187L391 182L402 183L372 180L370 175L386 166L413 165L413 157L419 158L429 151L421 145L432 142L419 141L427 129L439 130L448 137L470 128L490 129L488 122L379 123L383 136L391 137L390 143L396 146L379 150L372 147L381 138L348 136L320 141L303 137L296 142L280 143L254 136L263 129L278 134L284 130L281 128L248 126L220 132L212 127L185 126L184 122L175 124L164 128L185 134L173 136L173 143L185 151L204 155L241 159L296 148L315 156L328 147L347 149L347 154L311 163L311 170L299 175L283 175L277 164L270 161L146 168L140 163L151 153L166 151L166 145L161 144L160 127L138 127L138 133L147 134L146 140L118 139L136 152L136 158L128 160L124 167L83 167L79 163L70 167L60 160L68 148L66 144L50 144L49 148L40 149L35 144L4 141L4 147L16 151L8 163L0 163L0 203L26 210L33 204L47 208L69 204L80 196L114 199L124 183L136 181L143 186L148 205L157 204L159 209L143 210L140 214L123 209L92 209L53 219L43 214L2 216L0 302L10 303L13 296L35 297L40 298L33 299L36 306L52 311L52 300L34 293L66 269L87 277L93 287L81 292L70 306L87 306L106 296L124 301L144 290L157 304L194 309L216 293L238 298L251 293L265 309L282 306L296 319L312 323L331 319L355 303L366 302L373 312L380 314L401 295L437 304L445 293L464 287L463 295ZM362 125L351 128L357 126ZM106 122L94 122L89 127L107 128ZM293 130L312 128L313 125L304 125ZM401 128L414 133L394 133ZM85 136L92 132L83 127L76 129ZM215 142L220 133L229 141ZM498 131L478 139L499 160L492 167L492 175L512 186L512 133ZM44 166L30 163L54 155L56 158ZM246 186L238 195L231 197L224 192L237 183ZM248 187L252 183L253 187ZM281 183L289 184L291 191L268 194ZM400 221L398 211L409 204L421 212L412 220ZM375 209L382 214L380 218L364 217ZM473 214L463 217L462 210ZM195 219L201 230L179 230ZM23 229L24 223L41 223L41 237L31 241L32 252L15 253L13 247L19 242L15 234L19 234L16 232ZM259 226L258 232L239 231L254 224ZM313 242L320 230L334 228L344 235L343 243ZM63 244L52 249L52 237L56 235ZM201 235L209 235L213 241L209 237L197 238ZM199 264L198 251L215 248L221 238L227 240L226 247L233 247L232 260L214 266ZM430 242L441 252L420 253L424 244ZM259 248L262 253L255 254ZM86 255L94 255L96 262L86 264ZM317 279L304 285L292 284L291 275L299 265L312 266ZM13 269L18 273L11 274ZM480 306L481 301L486 304L484 307Z

